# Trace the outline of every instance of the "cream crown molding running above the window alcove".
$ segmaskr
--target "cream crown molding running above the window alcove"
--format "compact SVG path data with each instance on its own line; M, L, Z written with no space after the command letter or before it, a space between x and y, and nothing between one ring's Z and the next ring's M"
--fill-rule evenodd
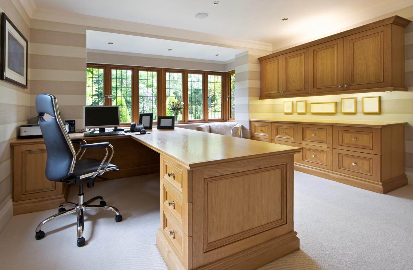
M117 31L127 31L132 33L149 35L155 38L200 43L212 46L221 46L237 49L256 49L270 52L272 52L273 50L273 45L271 43L250 41L227 36L218 36L209 33L201 33L196 31L176 29L165 26L157 26L152 24L128 22L117 19L95 17L77 13L58 12L55 10L47 10L44 8L37 8L36 11L33 13L31 19L60 22L65 24L76 24Z

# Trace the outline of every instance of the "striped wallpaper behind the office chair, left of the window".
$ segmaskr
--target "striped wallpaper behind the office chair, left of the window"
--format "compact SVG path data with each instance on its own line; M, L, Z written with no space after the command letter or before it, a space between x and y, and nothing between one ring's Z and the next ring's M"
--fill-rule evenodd
M36 121L35 99L40 93L57 97L63 120L83 128L86 105L86 30L84 26L31 21L29 44L30 117Z

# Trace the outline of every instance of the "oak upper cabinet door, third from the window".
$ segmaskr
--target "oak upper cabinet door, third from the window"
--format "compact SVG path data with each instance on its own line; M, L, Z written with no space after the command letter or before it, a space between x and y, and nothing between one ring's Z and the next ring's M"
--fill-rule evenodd
M344 90L343 38L310 47L310 93Z

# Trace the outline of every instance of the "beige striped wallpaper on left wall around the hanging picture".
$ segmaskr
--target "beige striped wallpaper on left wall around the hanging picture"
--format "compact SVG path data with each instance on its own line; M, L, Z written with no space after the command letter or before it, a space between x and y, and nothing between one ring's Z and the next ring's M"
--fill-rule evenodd
M16 3L19 5L19 3ZM18 6L20 10L23 7ZM30 28L25 18L10 0L0 0L0 12L5 12L30 42ZM28 58L30 61L30 57ZM12 218L11 155L9 143L17 139L18 127L27 124L30 105L30 88L21 88L0 81L0 232Z

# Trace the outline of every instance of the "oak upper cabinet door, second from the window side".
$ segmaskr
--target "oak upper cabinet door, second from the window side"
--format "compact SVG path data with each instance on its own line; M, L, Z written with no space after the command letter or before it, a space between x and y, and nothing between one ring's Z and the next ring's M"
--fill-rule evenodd
M309 49L282 55L282 96L309 92Z

